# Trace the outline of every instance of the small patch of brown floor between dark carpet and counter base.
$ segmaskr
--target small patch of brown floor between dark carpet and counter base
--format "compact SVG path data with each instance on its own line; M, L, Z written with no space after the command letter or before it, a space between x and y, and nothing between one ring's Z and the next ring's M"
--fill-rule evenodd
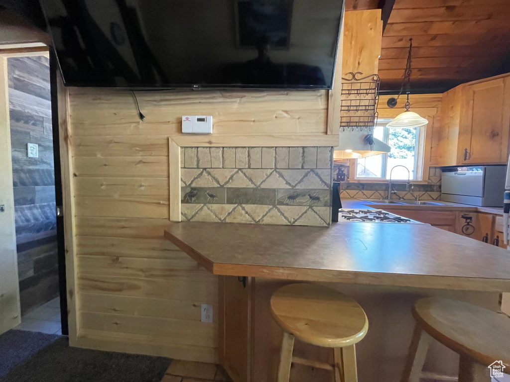
M219 365L173 360L161 382L232 382Z

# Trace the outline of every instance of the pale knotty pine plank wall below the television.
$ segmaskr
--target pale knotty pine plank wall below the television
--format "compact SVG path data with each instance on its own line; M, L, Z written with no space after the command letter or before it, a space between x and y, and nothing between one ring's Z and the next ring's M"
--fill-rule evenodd
M168 137L182 137L186 114L212 115L215 138L248 146L325 134L326 92L137 92L142 122L129 91L68 90L77 345L218 361L217 315L200 322L201 304L218 310L217 277L163 238Z

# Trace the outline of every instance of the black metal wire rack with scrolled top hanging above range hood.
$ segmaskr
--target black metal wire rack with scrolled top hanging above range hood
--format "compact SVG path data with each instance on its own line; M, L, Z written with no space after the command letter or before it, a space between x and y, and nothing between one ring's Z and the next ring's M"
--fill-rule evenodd
M371 130L377 123L380 79L377 74L362 77L349 72L342 77L340 129Z

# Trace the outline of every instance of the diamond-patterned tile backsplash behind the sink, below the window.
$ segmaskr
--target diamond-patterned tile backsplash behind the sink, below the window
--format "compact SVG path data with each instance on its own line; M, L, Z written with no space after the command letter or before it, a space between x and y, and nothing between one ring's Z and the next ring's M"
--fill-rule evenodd
M338 172L339 166L334 166L333 178ZM349 173L348 166L343 166L344 172ZM410 189L406 189L405 181L393 181L392 188L395 188L396 194L392 199L414 200L418 197L420 200L441 200L441 168L430 167L428 170L428 182L411 184ZM341 182L340 198L342 199L386 199L388 198L388 182Z

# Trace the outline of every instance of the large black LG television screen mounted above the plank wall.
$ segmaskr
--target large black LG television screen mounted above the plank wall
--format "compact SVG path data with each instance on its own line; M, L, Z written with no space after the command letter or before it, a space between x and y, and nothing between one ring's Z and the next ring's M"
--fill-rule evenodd
M41 0L66 86L330 89L344 0Z

